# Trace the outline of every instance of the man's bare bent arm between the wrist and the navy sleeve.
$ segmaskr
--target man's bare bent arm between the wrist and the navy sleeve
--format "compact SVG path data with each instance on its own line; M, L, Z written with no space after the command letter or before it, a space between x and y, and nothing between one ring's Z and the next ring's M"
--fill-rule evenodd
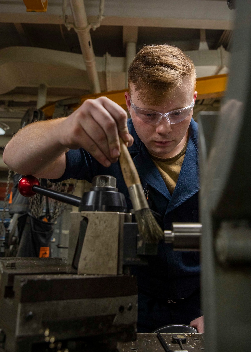
M3 161L24 175L38 175L55 164L67 150L57 134L57 126L64 119L33 122L19 130L6 145Z

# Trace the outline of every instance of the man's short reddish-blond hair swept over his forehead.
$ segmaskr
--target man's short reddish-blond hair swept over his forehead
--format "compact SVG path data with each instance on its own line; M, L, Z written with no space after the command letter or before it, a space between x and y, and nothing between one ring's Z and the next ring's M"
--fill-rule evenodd
M130 92L133 84L143 103L157 106L186 77L191 77L195 89L194 64L182 50L167 44L146 45L129 66L128 88Z

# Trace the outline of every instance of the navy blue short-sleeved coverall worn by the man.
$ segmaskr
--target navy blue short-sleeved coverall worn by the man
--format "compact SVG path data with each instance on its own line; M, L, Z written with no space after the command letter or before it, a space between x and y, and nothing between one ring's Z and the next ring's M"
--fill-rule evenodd
M128 150L142 186L149 190L150 209L160 214L162 227L170 230L172 222L198 222L198 129L194 120L189 125L187 150L172 196L137 136L131 119L128 130L134 138ZM126 196L128 209L132 208L120 163L105 168L84 149L69 150L64 175L51 181L60 182L72 177L92 182L96 175L115 176L118 190ZM137 275L139 292L138 332L152 332L170 323L189 324L201 316L199 253L172 251L169 244L161 242L157 256L148 259L148 266L131 268L131 273Z

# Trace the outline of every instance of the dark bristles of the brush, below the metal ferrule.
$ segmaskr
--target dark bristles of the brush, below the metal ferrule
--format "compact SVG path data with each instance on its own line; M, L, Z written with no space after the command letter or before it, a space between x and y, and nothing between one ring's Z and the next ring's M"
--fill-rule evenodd
M147 243L157 243L164 238L164 232L154 218L151 210L141 209L135 212L141 238Z

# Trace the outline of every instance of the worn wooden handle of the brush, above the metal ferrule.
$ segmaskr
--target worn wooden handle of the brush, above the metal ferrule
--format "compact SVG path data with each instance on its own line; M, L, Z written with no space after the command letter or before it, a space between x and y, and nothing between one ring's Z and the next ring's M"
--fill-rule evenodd
M127 188L133 184L141 184L133 159L131 158L127 146L122 138L120 138L120 148L120 166Z

